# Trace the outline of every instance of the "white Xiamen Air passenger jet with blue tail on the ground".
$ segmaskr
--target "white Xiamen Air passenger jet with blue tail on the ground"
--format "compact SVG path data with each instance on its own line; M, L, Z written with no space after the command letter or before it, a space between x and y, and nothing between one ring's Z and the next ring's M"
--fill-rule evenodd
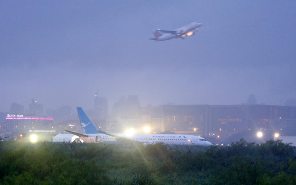
M82 134L65 130L71 134L79 136L84 142L105 142L105 141L133 141L142 143L143 145L163 143L167 145L201 145L212 146L212 143L206 141L204 138L193 135L181 134L110 134L107 132L97 131L96 126L88 118L81 107L77 107L78 117L81 125Z

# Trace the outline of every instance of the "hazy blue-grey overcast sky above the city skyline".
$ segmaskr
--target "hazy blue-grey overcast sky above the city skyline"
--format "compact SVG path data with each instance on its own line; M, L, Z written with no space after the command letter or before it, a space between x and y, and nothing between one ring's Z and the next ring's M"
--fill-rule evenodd
M0 111L296 98L296 1L0 1ZM202 22L186 39L152 30Z

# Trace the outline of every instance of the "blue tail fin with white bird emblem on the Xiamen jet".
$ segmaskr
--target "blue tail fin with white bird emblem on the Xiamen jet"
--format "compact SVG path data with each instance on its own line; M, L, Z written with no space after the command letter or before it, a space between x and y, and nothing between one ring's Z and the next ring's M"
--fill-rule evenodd
M82 134L97 134L98 132L95 125L90 121L84 110L81 107L77 107L77 112Z

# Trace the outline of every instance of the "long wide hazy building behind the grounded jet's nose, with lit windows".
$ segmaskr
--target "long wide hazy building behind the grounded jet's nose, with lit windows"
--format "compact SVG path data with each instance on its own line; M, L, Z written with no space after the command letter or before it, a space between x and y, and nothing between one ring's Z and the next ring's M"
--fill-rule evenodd
M277 105L162 105L159 111L147 112L162 121L162 132L229 137L245 130L295 132L296 107ZM156 116L157 115L157 116ZM155 126L154 126L155 127Z

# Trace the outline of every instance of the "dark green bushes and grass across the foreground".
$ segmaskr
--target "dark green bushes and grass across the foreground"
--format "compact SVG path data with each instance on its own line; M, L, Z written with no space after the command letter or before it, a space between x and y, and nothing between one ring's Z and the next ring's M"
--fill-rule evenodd
M0 142L0 184L296 184L295 148Z

